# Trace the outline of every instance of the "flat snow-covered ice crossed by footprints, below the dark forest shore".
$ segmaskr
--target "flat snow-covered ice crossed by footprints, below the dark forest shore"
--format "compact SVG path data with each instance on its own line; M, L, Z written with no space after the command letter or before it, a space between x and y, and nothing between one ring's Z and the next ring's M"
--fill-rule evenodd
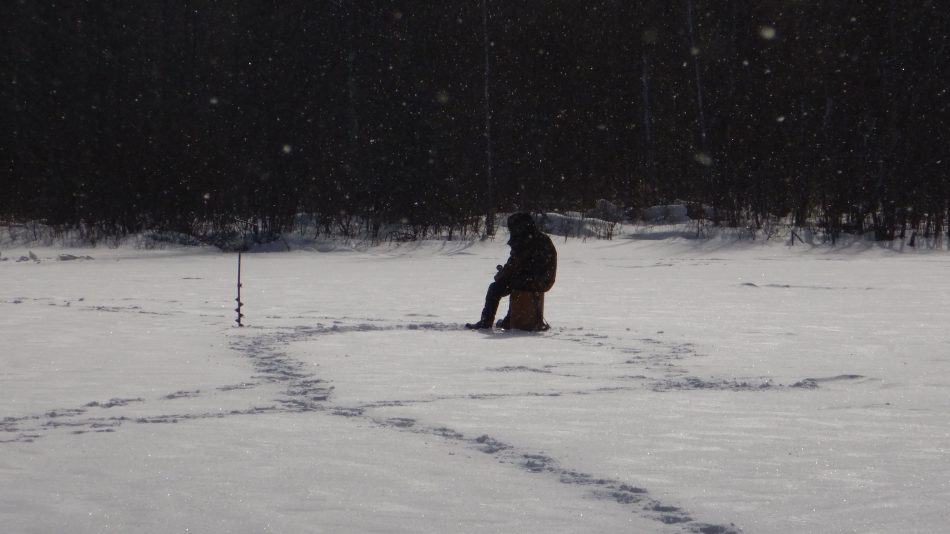
M4 532L939 532L950 256L556 240L4 248ZM68 254L74 258L60 259ZM502 308L506 306L502 304Z

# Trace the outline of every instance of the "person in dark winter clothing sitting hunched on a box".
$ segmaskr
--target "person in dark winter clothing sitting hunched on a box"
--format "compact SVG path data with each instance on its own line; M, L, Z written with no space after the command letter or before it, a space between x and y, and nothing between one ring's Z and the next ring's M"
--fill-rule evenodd
M466 328L491 328L498 303L512 291L545 292L554 285L557 251L551 238L538 230L534 219L527 213L508 217L508 231L511 234L508 240L511 256L504 266L498 266L495 282L488 286L481 320L466 324ZM505 317L499 326L508 328L508 320Z

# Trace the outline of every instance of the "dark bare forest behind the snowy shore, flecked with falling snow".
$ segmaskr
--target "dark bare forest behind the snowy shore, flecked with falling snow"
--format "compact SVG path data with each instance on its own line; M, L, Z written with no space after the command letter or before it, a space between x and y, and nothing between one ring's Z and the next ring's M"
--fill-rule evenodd
M273 234L485 213L478 1L4 7L2 219ZM947 230L941 2L487 7L494 208Z

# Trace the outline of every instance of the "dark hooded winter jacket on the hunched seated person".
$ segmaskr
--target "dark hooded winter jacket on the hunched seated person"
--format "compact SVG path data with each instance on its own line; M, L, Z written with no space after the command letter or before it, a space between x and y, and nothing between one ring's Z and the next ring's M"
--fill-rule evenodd
M548 291L557 273L557 251L547 234L538 230L527 213L508 217L511 256L495 275L495 280L513 290Z

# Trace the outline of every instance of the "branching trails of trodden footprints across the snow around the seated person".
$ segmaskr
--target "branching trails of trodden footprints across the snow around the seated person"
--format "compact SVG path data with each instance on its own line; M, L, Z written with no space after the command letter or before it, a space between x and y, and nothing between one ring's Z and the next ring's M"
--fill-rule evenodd
M651 497L646 489L624 481L598 478L587 473L572 470L568 467L561 466L555 458L543 452L522 449L501 442L488 435L477 437L466 436L461 432L444 426L430 427L421 425L411 418L390 417L379 419L374 417L371 413L373 408L384 406L405 406L457 398L475 399L517 396L515 394L464 393L455 396L429 399L382 401L362 406L338 406L334 405L331 401L333 386L314 374L308 373L303 362L295 360L284 350L285 347L292 343L320 335L387 330L458 331L460 328L461 325L458 324L433 321L386 324L380 320L363 319L362 322L356 324L345 324L337 320L329 325L317 324L316 326L281 329L265 332L260 335L239 337L232 342L232 347L244 354L254 369L253 377L247 382L220 386L213 391L175 391L151 400L142 397L112 398L105 401L92 401L77 408L57 409L43 414L22 417L5 417L0 419L0 444L34 442L42 438L48 432L55 430L67 430L73 434L115 432L119 427L125 424L174 424L182 421L210 418L220 419L237 415L324 412L339 417L361 418L380 428L387 428L393 431L438 437L448 443L491 455L499 463L515 466L526 473L548 477L563 484L583 487L587 489L587 494L591 497L613 501L619 505L630 507L634 512L644 517L668 525L677 525L685 532L700 534L729 534L740 532L734 525L714 525L696 521L686 511ZM681 365L682 361L697 355L695 347L690 343L669 344L653 338L640 338L636 340L637 346L635 347L621 346L616 344L608 336L587 333L582 329L561 329L542 335L566 342L604 348L608 351L621 354L623 355L621 365L636 366L637 368L651 372L654 376L648 377L643 374L618 376L617 378L640 382L639 385L627 387L598 387L589 390L556 393L524 392L521 393L520 396L583 395L596 392L642 389L644 387L657 392L690 389L725 389L733 391L755 391L775 388L814 389L825 382L861 380L865 378L860 375L806 378L791 385L772 384L767 380L737 381L702 379L689 376L687 370ZM561 372L561 368L568 368L570 365L569 363L565 363L548 365L543 368L505 366L487 368L486 371L579 376ZM197 413L180 412L143 417L108 415L109 410L134 404L152 404L155 402L174 403L180 399L214 395L219 392L260 388L265 384L279 385L280 387L278 389L280 394L273 399L273 403L271 404L249 409Z

